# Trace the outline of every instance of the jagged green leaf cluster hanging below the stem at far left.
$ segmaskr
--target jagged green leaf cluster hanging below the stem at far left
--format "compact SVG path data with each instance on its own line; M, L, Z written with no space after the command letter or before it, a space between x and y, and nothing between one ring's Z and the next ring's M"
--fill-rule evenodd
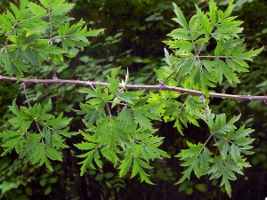
M45 164L53 171L50 160L62 161L61 148L69 148L64 143L64 138L77 134L69 132L71 118L63 117L62 114L57 117L48 114L47 112L52 109L51 100L44 106L36 103L30 108L18 108L13 100L9 108L15 115L9 120L14 130L0 133L0 138L4 142L4 152L1 156L15 149L25 161Z

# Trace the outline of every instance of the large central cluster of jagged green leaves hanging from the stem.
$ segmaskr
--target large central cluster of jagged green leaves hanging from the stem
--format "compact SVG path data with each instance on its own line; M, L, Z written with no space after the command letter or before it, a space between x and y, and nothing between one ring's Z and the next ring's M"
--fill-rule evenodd
M79 92L86 94L85 103L80 104L78 115L85 115L83 121L87 127L82 132L85 141L76 145L86 150L79 157L81 175L90 166L102 167L101 157L117 166L120 177L132 171L131 178L136 174L141 180L152 184L144 169L151 169L150 162L156 158L169 157L158 147L163 137L155 136L157 129L153 121L161 121L158 113L160 103L149 102L144 91L128 92L119 88L118 69L111 72L109 87L103 90L99 85L92 89L84 88ZM111 115L110 108L117 108L116 115Z

